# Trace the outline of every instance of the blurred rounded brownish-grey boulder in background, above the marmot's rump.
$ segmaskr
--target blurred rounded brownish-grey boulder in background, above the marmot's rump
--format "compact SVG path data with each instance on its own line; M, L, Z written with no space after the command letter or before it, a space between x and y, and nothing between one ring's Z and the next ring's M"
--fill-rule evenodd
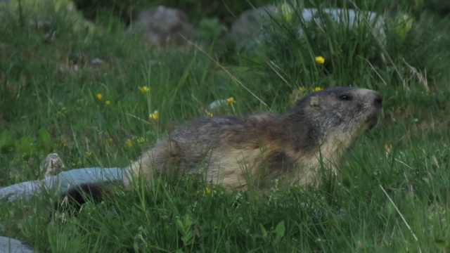
M151 46L159 47L186 45L186 39L193 39L194 34L193 26L185 13L165 6L139 13L128 32L142 34Z

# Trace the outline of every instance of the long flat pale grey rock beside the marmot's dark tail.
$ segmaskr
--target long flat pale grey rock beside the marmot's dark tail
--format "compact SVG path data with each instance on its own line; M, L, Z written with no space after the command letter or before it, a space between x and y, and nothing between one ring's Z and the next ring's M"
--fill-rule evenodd
M46 177L44 180L27 181L17 183L0 189L0 198L7 197L8 201L18 198L25 200L32 195L37 195L42 190L65 193L73 186L82 183L101 183L122 181L122 169L120 168L84 168L63 171L56 176Z

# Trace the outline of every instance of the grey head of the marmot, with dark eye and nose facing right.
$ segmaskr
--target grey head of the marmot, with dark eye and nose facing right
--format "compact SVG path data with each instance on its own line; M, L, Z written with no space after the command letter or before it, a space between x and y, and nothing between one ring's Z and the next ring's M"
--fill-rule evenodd
M338 87L316 91L297 102L290 115L321 135L371 129L383 110L383 97L369 89Z

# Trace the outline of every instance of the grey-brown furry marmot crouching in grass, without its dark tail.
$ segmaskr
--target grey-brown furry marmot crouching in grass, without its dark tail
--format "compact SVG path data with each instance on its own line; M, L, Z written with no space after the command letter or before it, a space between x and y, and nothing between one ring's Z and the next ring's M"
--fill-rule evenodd
M198 119L175 129L124 169L124 185L143 176L196 173L205 183L247 189L259 179L285 186L320 183L319 168L332 168L383 110L380 93L359 88L316 91L285 115Z

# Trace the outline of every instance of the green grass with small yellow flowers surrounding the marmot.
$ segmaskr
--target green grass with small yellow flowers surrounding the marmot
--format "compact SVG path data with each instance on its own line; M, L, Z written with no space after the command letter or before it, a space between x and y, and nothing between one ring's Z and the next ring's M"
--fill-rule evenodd
M303 95L300 86L375 89L384 114L339 164L340 175L317 189L261 195L219 186L205 193L192 181L117 186L100 204L87 203L77 216L53 214L51 222L51 194L0 200L0 235L39 252L448 251L449 20L424 12L402 30L392 18L381 43L364 24L349 31L326 19L323 29L306 25L307 37L293 39L300 21L275 18L266 27L271 39L252 52L220 43L153 51L114 17L91 32L72 29L58 13L45 28L13 14L4 19L0 187L42 179L39 163L51 152L67 169L126 167L167 131L208 112L283 113ZM53 31L54 41L44 39ZM207 108L231 96L233 106ZM155 110L159 119L149 119Z

